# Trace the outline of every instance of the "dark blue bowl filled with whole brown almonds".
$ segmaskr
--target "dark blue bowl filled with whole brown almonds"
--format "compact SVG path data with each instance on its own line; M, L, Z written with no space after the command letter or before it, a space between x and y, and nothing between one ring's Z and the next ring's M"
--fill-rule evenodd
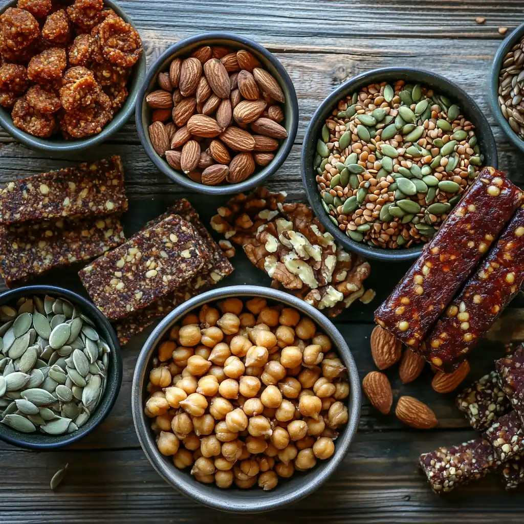
M152 65L139 93L140 141L160 171L195 191L260 184L287 158L298 102L282 64L228 32L181 40Z

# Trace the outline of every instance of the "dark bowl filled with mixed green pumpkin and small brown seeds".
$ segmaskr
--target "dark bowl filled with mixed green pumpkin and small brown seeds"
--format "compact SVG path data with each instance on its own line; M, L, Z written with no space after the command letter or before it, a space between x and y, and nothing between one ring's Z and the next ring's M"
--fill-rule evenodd
M326 229L367 258L417 258L484 166L497 167L478 105L438 74L383 68L348 80L316 110L301 171Z

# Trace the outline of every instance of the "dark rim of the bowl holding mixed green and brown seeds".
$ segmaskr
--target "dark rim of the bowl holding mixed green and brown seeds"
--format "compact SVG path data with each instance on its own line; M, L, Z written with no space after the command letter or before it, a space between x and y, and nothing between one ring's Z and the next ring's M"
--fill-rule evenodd
M328 215L324 211L324 208L322 207L322 204L320 203L320 194L316 190L316 183L311 186L309 185L309 179L311 177L314 177L314 171L311 168L311 166L307 166L306 164L306 157L309 147L313 147L314 144L316 144L316 138L313 137L313 128L315 126L316 121L322 116L322 113L324 113L328 107L332 109L336 102L341 99L342 96L347 94L348 91L350 91L355 84L364 83L364 81L372 82L377 76L379 75L421 75L424 79L429 80L422 80L425 82L444 82L445 84L449 85L449 93L450 96L453 97L453 92L458 91L461 93L461 96L470 104L469 112L475 113L478 115L478 122L481 123L480 126L476 126L477 129L481 128L483 135L485 134L485 140L487 148L493 150L493 158L488 158L487 160L489 163L487 165L492 165L495 168L498 166L498 157L497 157L497 146L495 143L495 138L493 136L493 132L488 124L488 121L476 102L471 98L470 95L468 95L463 89L461 89L458 85L456 85L451 80L448 80L447 78L443 77L440 74L433 73L431 71L427 71L425 69L418 69L418 68L410 68L410 67L387 67L387 68L378 68L378 69L372 69L369 71L366 71L364 73L361 73L357 75L356 77L353 77L346 82L344 82L342 85L340 85L338 88L336 88L334 91L332 91L320 104L320 106L315 111L313 117L311 118L311 121L308 125L308 128L304 135L304 141L302 143L302 151L300 156L300 170L302 173L302 183L304 185L305 193L308 197L309 203L311 207L313 208L313 211L315 212L316 216L318 216L319 220L322 222L326 230L328 230L336 239L339 241L345 248L358 253L359 255L365 256L367 258L375 259L375 260L387 260L390 262L402 262L405 260L412 260L414 258L417 258L422 253L422 249L424 247L424 244L421 244L419 246L409 247L408 249L384 249L384 248L378 248L378 247L371 247L367 244L362 244L359 242L353 241L351 238L349 238L345 233L343 233L339 228L335 227L335 225L329 220ZM314 141L313 141L314 139ZM486 151L487 153L487 151ZM488 155L486 154L486 157Z

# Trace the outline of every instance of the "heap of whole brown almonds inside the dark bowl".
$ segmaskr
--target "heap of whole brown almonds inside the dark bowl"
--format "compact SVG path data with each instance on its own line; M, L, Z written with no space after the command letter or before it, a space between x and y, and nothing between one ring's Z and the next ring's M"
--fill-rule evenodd
M288 133L277 80L245 49L196 49L158 75L149 139L173 169L196 182L242 182L275 157Z

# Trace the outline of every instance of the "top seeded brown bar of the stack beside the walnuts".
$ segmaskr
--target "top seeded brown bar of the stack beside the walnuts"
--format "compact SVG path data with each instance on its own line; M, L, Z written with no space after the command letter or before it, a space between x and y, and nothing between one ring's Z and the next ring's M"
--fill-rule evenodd
M171 215L97 258L79 276L96 307L118 320L185 285L210 257L193 226Z

